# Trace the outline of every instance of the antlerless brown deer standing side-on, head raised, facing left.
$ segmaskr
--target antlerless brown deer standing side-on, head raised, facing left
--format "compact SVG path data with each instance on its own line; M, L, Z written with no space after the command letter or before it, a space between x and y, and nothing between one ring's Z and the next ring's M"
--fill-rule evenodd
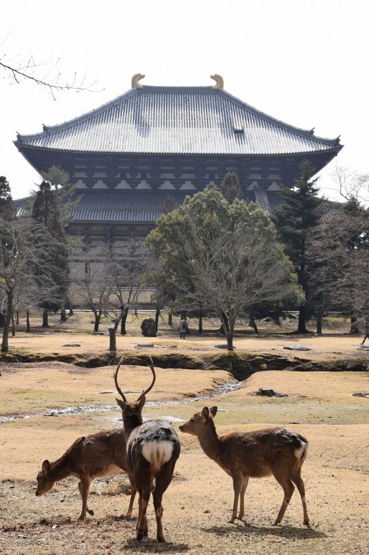
M213 418L217 407L204 407L179 429L199 438L204 453L219 464L233 479L235 497L230 522L244 516L244 494L249 478L273 475L285 492L274 526L280 523L294 493L294 484L303 502L304 524L309 525L305 501L305 486L301 466L307 456L307 439L287 428L260 429L255 432L233 432L219 437ZM238 499L240 512L237 517Z

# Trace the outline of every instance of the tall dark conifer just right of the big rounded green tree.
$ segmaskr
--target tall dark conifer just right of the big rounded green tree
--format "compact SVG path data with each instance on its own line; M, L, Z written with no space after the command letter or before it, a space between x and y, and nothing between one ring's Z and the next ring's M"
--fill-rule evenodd
M318 179L311 179L314 173L312 164L305 160L301 173L294 180L294 188L283 187L280 192L282 204L274 211L274 223L285 244L286 253L294 263L298 283L305 293L305 303L300 305L298 314L298 333L307 333L306 321L309 315L309 257L307 237L312 228L318 225L323 213L323 200L318 198Z

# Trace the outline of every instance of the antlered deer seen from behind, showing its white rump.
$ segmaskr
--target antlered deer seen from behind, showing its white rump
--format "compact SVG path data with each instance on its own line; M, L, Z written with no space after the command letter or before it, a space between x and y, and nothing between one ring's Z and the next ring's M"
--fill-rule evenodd
M150 386L139 395L134 402L128 402L118 384L118 371L123 357L114 372L116 390L122 399L116 399L122 410L123 424L127 439L127 466L131 472L138 490L138 519L136 524L136 538L141 541L147 536L147 504L150 493L154 500L156 515L156 538L164 542L162 527L163 506L162 499L174 472L180 452L179 438L172 425L165 420L147 420L143 422L142 410L146 402L146 395L155 383L156 374L152 358L147 365L152 371Z

